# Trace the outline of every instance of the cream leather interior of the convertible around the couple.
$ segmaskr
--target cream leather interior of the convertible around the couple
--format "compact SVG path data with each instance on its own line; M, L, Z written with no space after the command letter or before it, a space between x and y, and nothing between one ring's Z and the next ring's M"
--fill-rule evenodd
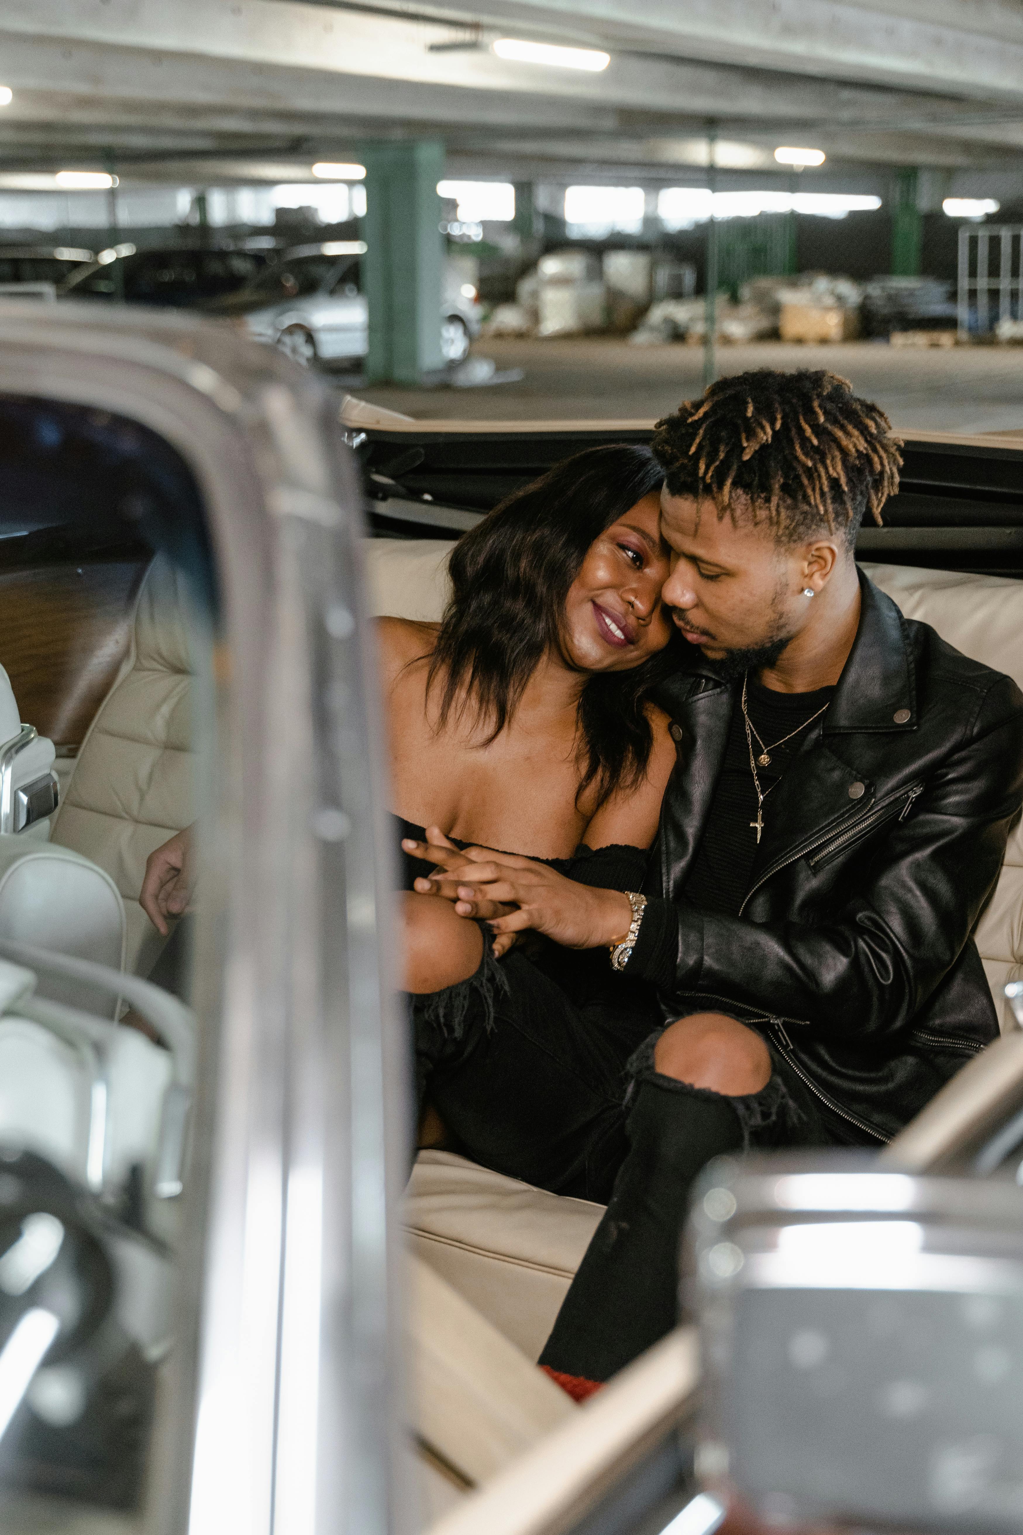
M138 1443L170 1346L202 1050L187 967L161 970L164 939L138 898L147 857L201 814L215 559L195 480L158 433L35 399L0 399L0 1142L101 1196L123 1233L130 1348L110 1345L98 1374L123 1383ZM509 488L586 444L650 430L406 424L357 402L342 425L368 508L363 611L422 620L443 611L452 536ZM906 445L886 525L860 539L865 569L906 617L1020 686L1021 462L997 439L922 434ZM977 944L1003 1039L963 1058L880 1167L1015 1177L1023 1048L1006 985L1023 979L1018 827ZM465 1509L466 1535L575 1527L600 1495L595 1467L627 1480L636 1446L664 1448L663 1497L690 1484L676 1435L699 1374L689 1319L586 1406L535 1366L601 1213L442 1137L419 1148L402 1219L423 1524L454 1535ZM58 1401L54 1382L49 1391ZM46 1417L44 1389L32 1401L41 1428L3 1455L21 1446L32 1486L95 1495L95 1446L74 1440L60 1403ZM127 1457L124 1506L140 1477ZM469 1523L465 1498L479 1489L489 1501L472 1504Z

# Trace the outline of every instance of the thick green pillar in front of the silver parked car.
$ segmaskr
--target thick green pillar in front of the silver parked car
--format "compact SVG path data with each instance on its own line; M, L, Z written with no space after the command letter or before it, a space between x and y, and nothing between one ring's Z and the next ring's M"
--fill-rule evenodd
M362 220L370 309L367 382L419 384L443 367L440 296L445 244L440 198L445 150L433 140L362 144Z

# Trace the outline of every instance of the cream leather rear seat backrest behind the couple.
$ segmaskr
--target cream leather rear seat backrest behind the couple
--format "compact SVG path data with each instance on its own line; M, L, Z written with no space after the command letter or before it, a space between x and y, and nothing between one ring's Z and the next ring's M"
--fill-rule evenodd
M440 619L449 594L452 548L451 542L433 539L368 539L370 612ZM1023 688L1023 582L910 565L863 565L863 569L906 619L929 623L957 651L1008 672ZM1003 987L1023 975L1023 826L1009 838L997 889L975 936L998 1019L1003 1028L1012 1028Z

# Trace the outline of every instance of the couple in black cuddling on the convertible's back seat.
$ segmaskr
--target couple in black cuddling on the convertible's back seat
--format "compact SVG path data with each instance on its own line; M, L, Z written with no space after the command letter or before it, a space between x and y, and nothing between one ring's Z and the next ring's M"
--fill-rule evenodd
M419 1107L607 1205L540 1360L575 1394L675 1323L710 1157L879 1148L997 1035L1023 697L857 571L899 462L830 373L724 379L382 620Z

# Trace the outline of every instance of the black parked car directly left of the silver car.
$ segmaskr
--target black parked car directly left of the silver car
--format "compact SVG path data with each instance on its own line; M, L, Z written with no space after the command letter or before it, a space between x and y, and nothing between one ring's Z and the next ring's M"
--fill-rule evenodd
M63 298L110 299L160 309L193 309L233 293L262 270L271 252L218 246L138 250L130 241L101 250L72 272Z

